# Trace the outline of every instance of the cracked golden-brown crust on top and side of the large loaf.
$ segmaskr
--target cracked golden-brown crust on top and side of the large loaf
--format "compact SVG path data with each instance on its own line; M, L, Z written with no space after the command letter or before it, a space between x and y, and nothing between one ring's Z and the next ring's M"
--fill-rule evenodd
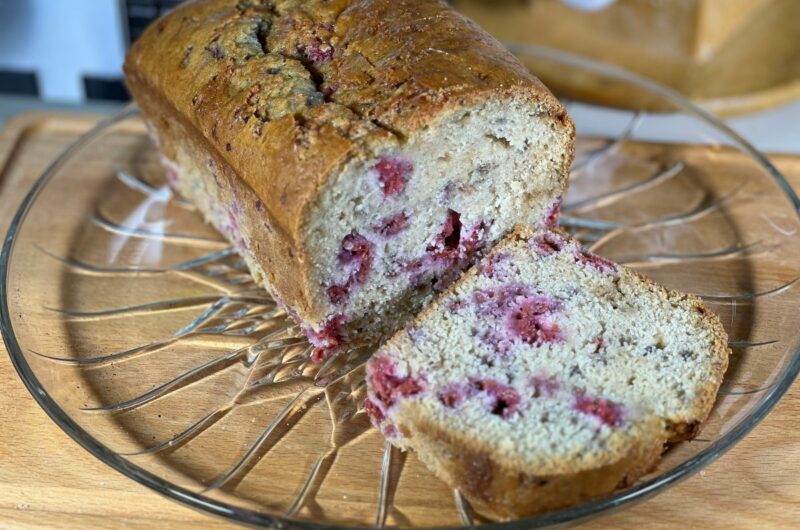
M490 99L529 101L574 138L552 94L440 0L188 2L135 43L125 72L166 156L188 141L263 203L271 231L251 250L301 314L317 289L308 208L349 161Z

